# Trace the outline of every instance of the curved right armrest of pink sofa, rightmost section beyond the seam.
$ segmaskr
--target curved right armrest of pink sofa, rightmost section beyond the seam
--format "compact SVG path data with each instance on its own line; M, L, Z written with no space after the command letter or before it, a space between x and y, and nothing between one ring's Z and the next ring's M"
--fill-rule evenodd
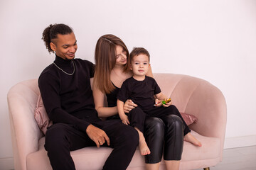
M208 81L201 81L191 94L186 111L198 118L191 129L208 137L225 137L227 106L222 92Z

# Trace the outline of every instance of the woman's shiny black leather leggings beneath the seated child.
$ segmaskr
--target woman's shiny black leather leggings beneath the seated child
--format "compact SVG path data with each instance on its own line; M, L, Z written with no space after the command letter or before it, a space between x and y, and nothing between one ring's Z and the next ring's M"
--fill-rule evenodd
M181 160L183 130L186 124L184 125L182 117L176 114L157 117L159 118L147 116L144 121L144 137L151 152L145 156L146 164L161 162L163 152L164 160Z

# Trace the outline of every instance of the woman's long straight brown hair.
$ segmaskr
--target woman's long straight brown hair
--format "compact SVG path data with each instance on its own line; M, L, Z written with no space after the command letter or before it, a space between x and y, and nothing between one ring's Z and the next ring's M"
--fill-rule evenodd
M120 45L127 52L127 64L124 72L129 70L129 51L124 42L115 35L102 35L97 40L95 48L95 76L94 84L102 93L110 94L114 85L110 80L110 73L116 64L116 46Z

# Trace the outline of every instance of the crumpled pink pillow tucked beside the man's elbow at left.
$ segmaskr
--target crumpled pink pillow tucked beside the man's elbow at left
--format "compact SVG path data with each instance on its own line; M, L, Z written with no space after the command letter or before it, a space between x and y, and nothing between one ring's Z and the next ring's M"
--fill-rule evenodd
M38 127L43 131L46 135L46 130L48 126L53 125L52 121L48 118L48 114L46 113L46 108L43 106L43 100L41 98L41 94L38 96L38 102L36 103L35 110L35 119Z

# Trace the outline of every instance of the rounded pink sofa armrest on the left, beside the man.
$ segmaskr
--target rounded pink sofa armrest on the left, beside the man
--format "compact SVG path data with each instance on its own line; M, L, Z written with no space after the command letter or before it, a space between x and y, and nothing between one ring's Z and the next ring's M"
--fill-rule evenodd
M15 169L26 169L26 156L38 150L42 137L34 118L38 98L37 80L28 80L13 86L7 95Z

